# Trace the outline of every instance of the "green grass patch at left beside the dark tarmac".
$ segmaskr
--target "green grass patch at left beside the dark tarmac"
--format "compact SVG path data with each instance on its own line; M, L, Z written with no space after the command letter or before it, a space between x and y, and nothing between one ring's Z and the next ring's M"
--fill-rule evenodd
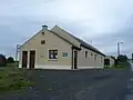
M24 70L19 68L2 68L0 70L0 92L21 90L33 86L24 78Z

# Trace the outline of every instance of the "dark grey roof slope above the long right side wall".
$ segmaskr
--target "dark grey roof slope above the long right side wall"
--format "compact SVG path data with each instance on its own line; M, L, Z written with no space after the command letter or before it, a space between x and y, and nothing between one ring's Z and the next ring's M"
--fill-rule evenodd
M100 53L100 54L102 54L102 56L105 57L105 54L103 54L101 51L99 51L99 50L98 50L96 48L94 48L93 46L86 43L85 41L81 40L80 38L73 36L73 34L70 34L70 36L73 37L74 39L76 39L76 40L81 43L81 46L83 46L83 47L85 47L85 48L88 48L88 49L90 49L90 50L92 50L92 51L94 51L94 52L96 52L96 53Z

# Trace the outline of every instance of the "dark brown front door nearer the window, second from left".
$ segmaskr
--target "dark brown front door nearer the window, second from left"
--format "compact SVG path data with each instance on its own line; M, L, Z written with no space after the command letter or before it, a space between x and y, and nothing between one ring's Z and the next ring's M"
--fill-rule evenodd
M30 60L29 60L29 69L34 68L34 62L35 62L35 50L30 51Z

